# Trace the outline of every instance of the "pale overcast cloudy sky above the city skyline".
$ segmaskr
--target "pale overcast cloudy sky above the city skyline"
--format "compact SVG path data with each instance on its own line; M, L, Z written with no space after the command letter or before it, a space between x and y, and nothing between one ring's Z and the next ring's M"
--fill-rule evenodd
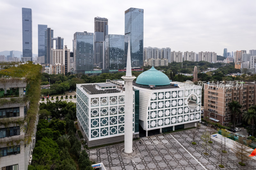
M124 11L144 9L144 47L223 54L256 49L255 0L1 0L0 51L22 51L21 8L32 9L33 54L37 25L48 25L72 51L75 32L94 32L94 17L108 18L109 34L124 34ZM247 52L247 53L248 53Z

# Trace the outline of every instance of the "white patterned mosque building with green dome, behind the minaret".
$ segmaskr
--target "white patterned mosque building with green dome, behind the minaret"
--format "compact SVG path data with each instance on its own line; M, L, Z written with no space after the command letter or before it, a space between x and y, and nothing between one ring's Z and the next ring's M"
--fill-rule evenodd
M89 147L124 141L125 81L77 84L77 122ZM172 82L152 67L132 81L133 137L139 126L160 133L197 125L201 86ZM131 122L128 122L131 123Z

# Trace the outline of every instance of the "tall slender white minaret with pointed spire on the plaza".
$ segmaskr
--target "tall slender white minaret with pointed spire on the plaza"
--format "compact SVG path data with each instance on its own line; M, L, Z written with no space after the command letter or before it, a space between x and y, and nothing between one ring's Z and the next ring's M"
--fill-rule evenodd
M136 78L132 76L130 40L128 41L126 75L122 77L125 81L125 107L124 107L124 153L132 153L132 81Z

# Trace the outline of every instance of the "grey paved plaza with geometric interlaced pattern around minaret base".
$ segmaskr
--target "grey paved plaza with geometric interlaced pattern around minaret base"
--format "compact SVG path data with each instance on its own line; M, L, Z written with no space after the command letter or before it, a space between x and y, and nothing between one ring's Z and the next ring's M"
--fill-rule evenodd
M140 141L133 143L134 154L127 156L122 152L124 144L88 150L90 159L102 162L108 170L203 170L221 169L220 144L213 141L209 155L204 155L201 135L205 126L201 126L196 135L196 145L192 145L190 130L170 134L159 134L142 137ZM247 162L242 167L234 152L227 148L228 153L223 155L222 169L255 169L256 162Z

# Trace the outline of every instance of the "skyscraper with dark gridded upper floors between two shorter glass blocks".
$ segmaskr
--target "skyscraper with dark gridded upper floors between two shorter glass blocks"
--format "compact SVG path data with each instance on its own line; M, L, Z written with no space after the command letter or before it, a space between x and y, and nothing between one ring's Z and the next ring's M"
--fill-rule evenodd
M103 41L108 35L108 19L94 18L94 63L102 68L103 63Z

